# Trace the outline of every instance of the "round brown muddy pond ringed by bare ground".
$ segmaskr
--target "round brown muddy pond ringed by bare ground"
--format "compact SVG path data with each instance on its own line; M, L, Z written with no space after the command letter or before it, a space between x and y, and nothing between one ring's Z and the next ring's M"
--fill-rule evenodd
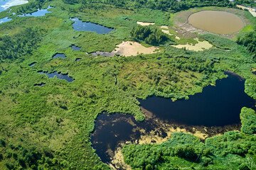
M241 30L244 23L241 18L225 11L200 11L188 17L188 23L211 33L230 34Z

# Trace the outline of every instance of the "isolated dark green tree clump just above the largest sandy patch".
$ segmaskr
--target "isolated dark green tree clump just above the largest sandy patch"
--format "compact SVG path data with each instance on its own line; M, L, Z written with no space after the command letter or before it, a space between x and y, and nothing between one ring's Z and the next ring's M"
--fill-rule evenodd
M131 37L133 40L142 40L149 45L160 45L169 39L169 35L163 33L159 28L150 28L150 26L138 26L132 28Z

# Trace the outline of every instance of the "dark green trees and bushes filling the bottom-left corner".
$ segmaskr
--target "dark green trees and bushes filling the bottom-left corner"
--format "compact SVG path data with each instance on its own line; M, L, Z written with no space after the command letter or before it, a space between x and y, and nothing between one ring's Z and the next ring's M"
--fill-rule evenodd
M20 138L19 145L0 137L0 161L9 159L4 164L7 169L67 169L69 164L54 156L54 152L48 147L26 147Z

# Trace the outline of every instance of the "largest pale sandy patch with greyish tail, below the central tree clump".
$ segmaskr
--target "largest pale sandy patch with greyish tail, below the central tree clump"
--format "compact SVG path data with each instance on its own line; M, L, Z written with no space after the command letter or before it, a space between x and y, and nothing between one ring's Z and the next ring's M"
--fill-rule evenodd
M112 52L94 52L92 55L102 55L107 57L113 57L114 55L123 55L125 57L128 56L136 56L139 54L153 54L159 50L157 47L144 47L143 45L139 44L138 42L122 42L121 44L117 45L117 48Z

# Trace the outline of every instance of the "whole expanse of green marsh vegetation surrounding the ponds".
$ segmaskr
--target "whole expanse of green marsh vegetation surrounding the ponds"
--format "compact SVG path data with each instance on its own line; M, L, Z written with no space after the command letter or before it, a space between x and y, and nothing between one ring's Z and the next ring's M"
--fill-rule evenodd
M130 114L143 121L138 98L187 100L226 77L227 70L244 77L245 93L256 99L256 19L236 8L243 3L253 4L28 0L11 6L11 13L2 11L0 18L12 20L0 24L0 169L111 169L90 141L98 115ZM18 16L48 6L53 8L45 16ZM183 23L198 11L227 11L242 18L245 26L228 35L192 33ZM75 30L72 18L113 30ZM201 43L206 47L190 50ZM122 45L128 52L118 50ZM143 52L134 55L129 47ZM53 59L57 53L65 58ZM58 72L73 81L40 72ZM240 131L204 141L178 132L161 144L125 145L124 162L146 170L256 169L255 111L242 108L240 119Z

